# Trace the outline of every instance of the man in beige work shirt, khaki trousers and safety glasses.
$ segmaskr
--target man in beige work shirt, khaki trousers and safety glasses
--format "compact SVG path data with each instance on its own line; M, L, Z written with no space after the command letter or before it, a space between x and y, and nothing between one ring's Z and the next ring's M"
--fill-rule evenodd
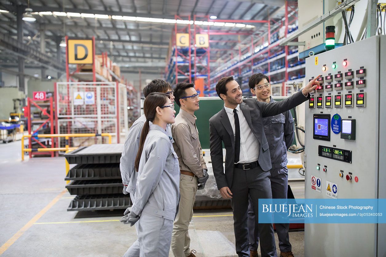
M174 151L178 155L179 210L174 220L171 249L174 257L195 257L190 250L189 223L193 216L193 204L197 190L203 189L208 180L194 112L200 109L198 94L193 83L181 82L174 88L175 102L180 107L176 123L172 124Z

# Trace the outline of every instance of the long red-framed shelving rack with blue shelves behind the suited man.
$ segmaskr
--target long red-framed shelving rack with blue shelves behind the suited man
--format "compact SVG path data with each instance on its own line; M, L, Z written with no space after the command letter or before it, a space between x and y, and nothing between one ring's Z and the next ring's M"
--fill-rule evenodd
M215 93L218 79L225 76L234 76L242 87L243 92L250 94L248 87L249 77L256 73L266 74L273 85L273 95L286 96L288 82L302 81L305 76L305 60L298 59L297 46L280 46L279 39L297 30L297 2L286 1L285 15L279 22L271 25L268 22L268 31L262 35L252 35L240 45L245 45L239 50L239 55L231 57L210 74L210 87L205 95ZM280 31L284 28L284 34ZM249 41L249 43L248 43Z

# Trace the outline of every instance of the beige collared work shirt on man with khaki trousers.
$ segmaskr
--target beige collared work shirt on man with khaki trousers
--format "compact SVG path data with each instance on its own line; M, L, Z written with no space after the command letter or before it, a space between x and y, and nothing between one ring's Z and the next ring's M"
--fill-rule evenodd
M173 147L178 155L179 168L201 178L202 170L207 169L207 165L202 154L196 119L196 116L179 109L176 122L172 124Z

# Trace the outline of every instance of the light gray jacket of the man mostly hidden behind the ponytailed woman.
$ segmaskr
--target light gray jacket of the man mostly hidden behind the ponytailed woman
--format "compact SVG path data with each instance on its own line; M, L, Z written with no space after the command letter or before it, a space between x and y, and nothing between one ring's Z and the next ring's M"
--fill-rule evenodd
M122 156L120 158L120 172L122 176L122 183L124 185L123 193L135 195L135 187L137 183L138 173L135 172L135 157L137 157L139 148L139 139L141 138L142 129L146 122L145 114L139 117L130 127L129 134L125 140ZM152 124L150 122L150 124ZM171 136L171 126L168 124L166 131Z

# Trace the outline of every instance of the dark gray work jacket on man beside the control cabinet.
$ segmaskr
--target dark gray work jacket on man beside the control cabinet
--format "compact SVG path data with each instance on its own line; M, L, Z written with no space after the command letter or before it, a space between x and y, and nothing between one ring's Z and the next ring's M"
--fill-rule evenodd
M270 97L270 102L276 102ZM295 138L291 111L263 118L264 133L266 134L272 168L282 168L288 163L287 149Z

